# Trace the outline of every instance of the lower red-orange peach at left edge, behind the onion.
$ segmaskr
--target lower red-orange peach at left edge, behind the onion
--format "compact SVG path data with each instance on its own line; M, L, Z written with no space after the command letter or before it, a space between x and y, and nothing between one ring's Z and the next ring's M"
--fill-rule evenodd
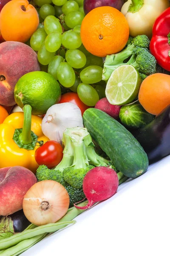
M0 169L0 215L23 209L24 195L36 182L35 175L22 166Z

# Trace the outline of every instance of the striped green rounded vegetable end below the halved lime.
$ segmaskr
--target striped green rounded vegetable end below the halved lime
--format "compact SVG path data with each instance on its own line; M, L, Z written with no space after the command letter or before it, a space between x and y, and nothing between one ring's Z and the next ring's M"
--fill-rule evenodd
M122 106L119 118L123 125L130 128L142 128L149 124L155 116L148 113L139 102Z

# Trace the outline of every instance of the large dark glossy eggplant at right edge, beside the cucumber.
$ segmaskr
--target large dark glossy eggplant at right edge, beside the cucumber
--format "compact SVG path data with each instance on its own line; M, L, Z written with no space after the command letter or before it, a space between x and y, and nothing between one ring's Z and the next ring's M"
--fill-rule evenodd
M149 163L156 163L170 154L170 105L152 122L133 132L147 153Z

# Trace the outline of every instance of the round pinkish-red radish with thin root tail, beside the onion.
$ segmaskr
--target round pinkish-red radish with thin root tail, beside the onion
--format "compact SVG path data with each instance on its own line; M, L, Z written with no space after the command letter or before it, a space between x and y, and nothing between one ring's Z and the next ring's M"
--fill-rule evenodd
M78 209L88 209L96 202L106 200L114 195L119 186L117 173L108 167L95 167L84 177L82 188L88 204L84 207L74 206Z

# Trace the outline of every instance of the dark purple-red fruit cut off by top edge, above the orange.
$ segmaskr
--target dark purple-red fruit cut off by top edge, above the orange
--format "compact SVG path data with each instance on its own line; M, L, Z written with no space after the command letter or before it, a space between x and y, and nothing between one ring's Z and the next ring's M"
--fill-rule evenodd
M86 15L94 8L100 6L111 6L120 11L123 3L123 0L84 0L84 12Z

